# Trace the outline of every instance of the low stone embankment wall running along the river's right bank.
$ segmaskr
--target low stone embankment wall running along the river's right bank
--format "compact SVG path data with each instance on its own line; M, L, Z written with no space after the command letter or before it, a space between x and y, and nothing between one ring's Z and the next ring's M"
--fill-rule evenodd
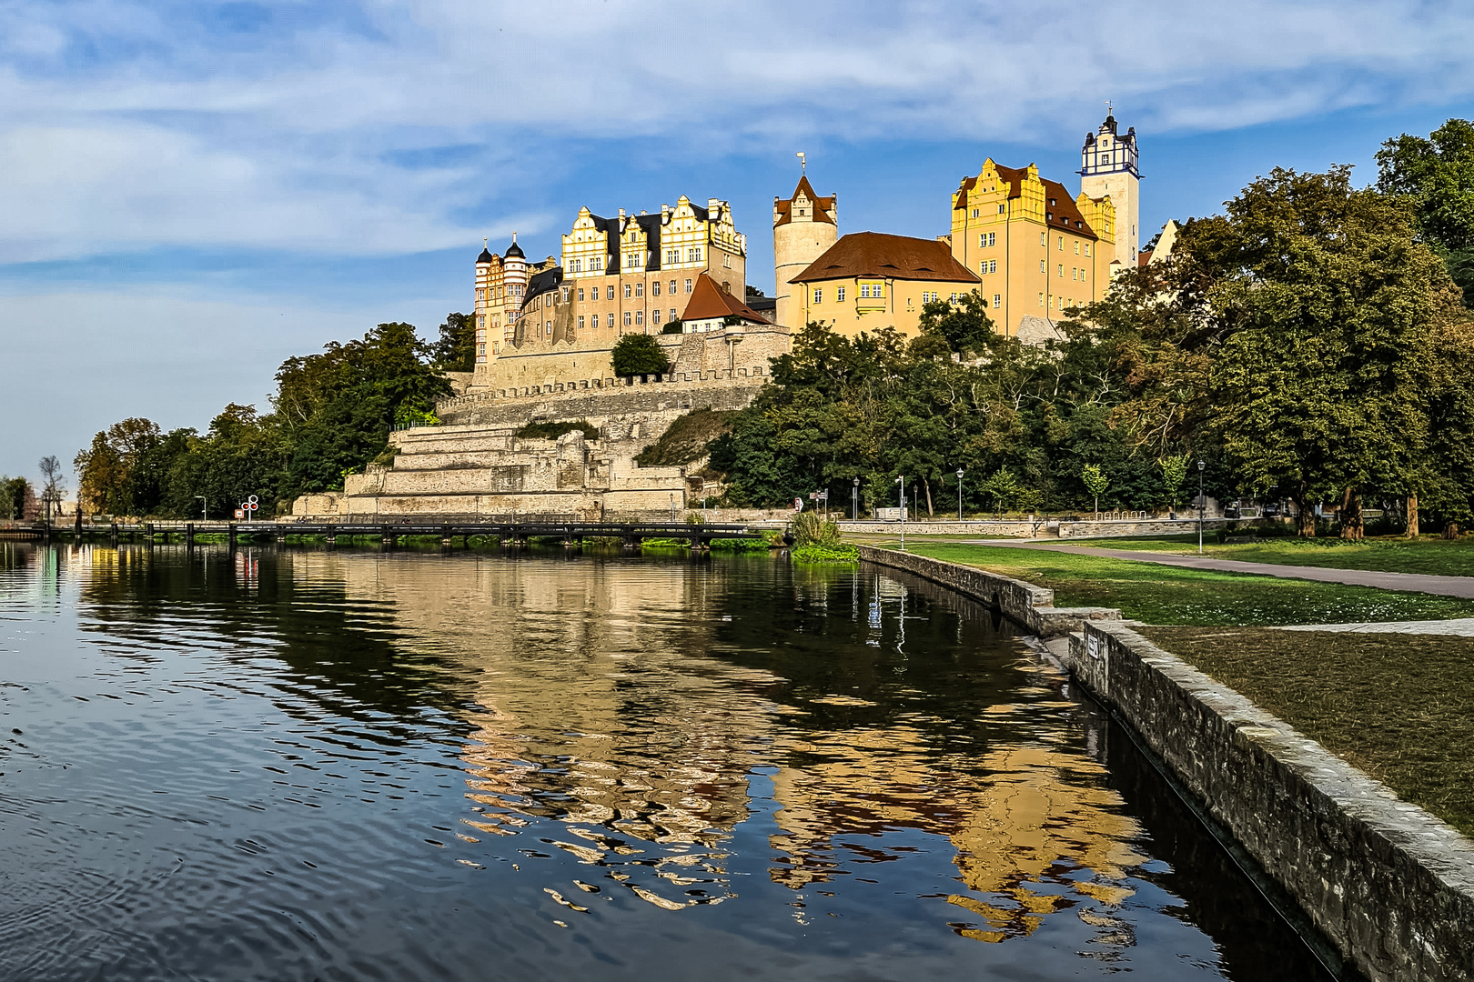
M1073 614L1054 608L1049 590L983 570L870 546L861 558L949 586L1041 635ZM1120 620L1076 623L1066 663L1076 680L1347 966L1372 982L1474 979L1474 842Z

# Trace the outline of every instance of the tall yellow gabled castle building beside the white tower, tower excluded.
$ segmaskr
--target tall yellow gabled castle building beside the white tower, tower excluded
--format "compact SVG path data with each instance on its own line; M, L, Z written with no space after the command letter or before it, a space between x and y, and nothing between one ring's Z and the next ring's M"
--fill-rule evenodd
M1072 197L1039 168L1007 168L989 158L952 193L952 256L980 280L979 290L1005 334L1026 317L1055 321L1072 306L1106 296L1116 256L1110 197Z

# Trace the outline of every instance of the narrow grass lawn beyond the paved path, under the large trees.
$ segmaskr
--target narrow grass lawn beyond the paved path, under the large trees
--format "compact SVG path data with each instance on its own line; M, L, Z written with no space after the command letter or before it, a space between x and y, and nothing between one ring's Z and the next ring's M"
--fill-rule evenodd
M1151 539L1080 539L1077 545L1100 549L1144 549L1148 552L1195 554L1197 536L1160 536ZM1269 539L1256 543L1206 543L1203 552L1215 559L1318 565L1334 570L1381 570L1386 573L1430 573L1433 576L1474 576L1474 537L1442 539Z

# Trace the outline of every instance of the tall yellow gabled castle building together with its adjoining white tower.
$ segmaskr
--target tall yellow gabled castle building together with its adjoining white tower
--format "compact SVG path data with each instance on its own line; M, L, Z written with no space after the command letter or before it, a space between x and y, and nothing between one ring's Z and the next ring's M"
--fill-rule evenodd
M1048 333L1064 311L1100 300L1136 265L1136 133L1107 115L1080 150L1080 193L992 158L952 191L952 256L980 280L1005 334Z

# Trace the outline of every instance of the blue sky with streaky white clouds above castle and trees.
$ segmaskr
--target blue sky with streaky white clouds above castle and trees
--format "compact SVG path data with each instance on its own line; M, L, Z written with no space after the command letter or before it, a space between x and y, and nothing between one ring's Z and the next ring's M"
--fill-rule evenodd
M0 474L469 311L482 237L730 200L772 293L808 155L842 233L933 237L993 159L1079 187L1114 106L1142 241L1275 166L1474 116L1474 4L0 0ZM75 489L75 476L71 487Z

